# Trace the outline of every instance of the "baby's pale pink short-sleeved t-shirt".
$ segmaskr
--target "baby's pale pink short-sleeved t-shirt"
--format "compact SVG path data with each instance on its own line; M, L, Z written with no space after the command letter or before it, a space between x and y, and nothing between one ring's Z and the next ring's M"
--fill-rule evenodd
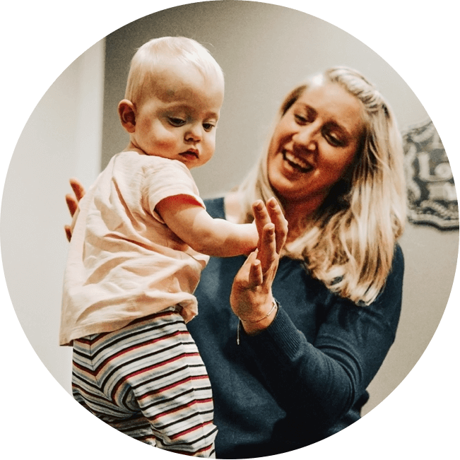
M186 322L209 257L180 240L155 213L167 196L204 206L187 167L135 151L114 155L80 202L64 275L59 343L115 331L176 305Z

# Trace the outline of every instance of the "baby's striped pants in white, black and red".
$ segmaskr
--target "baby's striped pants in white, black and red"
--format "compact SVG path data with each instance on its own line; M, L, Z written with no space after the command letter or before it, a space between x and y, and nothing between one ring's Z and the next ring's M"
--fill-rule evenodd
M211 384L173 307L73 341L73 397L136 440L215 459Z

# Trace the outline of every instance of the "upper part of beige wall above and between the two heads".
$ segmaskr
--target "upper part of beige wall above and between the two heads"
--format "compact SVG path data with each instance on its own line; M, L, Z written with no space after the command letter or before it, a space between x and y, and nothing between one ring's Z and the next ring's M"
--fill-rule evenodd
M225 100L213 159L194 170L201 194L228 191L261 151L282 98L311 73L347 65L362 71L387 96L401 128L427 117L391 56L326 21L290 8L243 1L198 2L144 16L107 36L103 165L127 143L117 104L129 61L153 37L186 35L211 50L225 73Z

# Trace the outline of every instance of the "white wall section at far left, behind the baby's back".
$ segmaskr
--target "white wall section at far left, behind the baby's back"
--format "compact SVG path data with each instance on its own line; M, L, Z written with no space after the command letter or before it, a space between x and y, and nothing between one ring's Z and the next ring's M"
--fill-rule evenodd
M104 49L104 40L95 43L49 82L18 138L1 198L1 259L14 312L30 346L66 391L71 349L58 346L68 249L64 195L71 191L69 177L91 183L100 168ZM24 345L16 324L9 326ZM36 371L34 357L20 350L18 369Z

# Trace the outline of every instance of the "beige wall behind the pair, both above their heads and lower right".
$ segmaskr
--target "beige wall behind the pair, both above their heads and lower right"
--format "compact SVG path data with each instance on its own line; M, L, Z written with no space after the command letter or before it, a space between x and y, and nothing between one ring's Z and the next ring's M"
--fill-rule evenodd
M207 165L192 170L205 197L223 194L240 182L261 151L284 95L305 76L329 66L362 71L389 100L401 129L429 117L423 99L411 89L412 82L406 83L391 66L391 54L380 57L359 37L282 6L202 2L145 16L107 37L102 165L127 143L116 107L123 98L132 54L162 35L186 35L204 43L225 73L216 154ZM396 343L370 386L365 413L403 381L435 334L454 281L459 232L408 225L401 245L406 257L401 324Z

